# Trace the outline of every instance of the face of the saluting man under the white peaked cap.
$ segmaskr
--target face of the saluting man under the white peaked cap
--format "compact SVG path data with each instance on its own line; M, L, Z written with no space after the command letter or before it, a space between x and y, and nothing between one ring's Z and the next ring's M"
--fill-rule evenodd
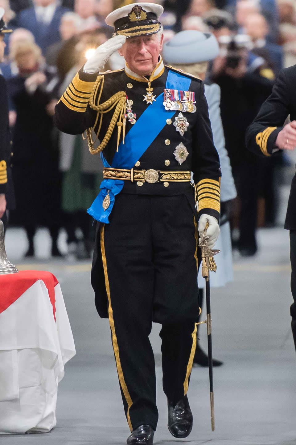
M146 76L157 65L159 53L162 50L162 40L158 34L151 36L130 37L126 39L118 53L125 58L128 67L142 76Z

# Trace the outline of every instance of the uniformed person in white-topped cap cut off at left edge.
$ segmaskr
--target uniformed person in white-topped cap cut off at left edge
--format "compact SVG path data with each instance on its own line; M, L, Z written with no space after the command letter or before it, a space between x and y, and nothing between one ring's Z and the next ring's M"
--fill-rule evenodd
M12 32L4 23L4 8L0 8L0 62L4 58L6 44L4 37ZM7 210L14 205L11 177L11 158L13 156L8 123L8 94L6 80L0 74L0 219L7 227Z

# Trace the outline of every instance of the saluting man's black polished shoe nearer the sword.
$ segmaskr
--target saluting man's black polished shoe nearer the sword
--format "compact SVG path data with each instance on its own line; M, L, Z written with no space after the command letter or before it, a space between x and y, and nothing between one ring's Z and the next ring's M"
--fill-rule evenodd
M193 417L187 396L174 404L168 400L168 429L172 436L182 439L189 436L192 430Z

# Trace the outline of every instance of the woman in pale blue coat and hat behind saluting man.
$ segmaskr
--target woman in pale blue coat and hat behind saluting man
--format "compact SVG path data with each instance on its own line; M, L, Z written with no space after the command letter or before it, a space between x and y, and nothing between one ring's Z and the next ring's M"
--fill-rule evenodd
M193 76L200 77L205 81L209 68L209 62L219 55L219 45L216 37L209 32L195 30L182 31L176 34L163 46L162 56L169 65L188 72ZM220 115L220 88L217 84L205 85L205 98L209 106L209 119L211 122L214 145L217 149L221 164L221 221L220 236L216 243L216 248L221 253L215 258L217 272L211 275L211 287L225 286L233 279L232 248L229 216L233 199L237 192L234 185L231 166L227 150L225 149L225 138ZM198 275L199 302L202 308L203 291L205 279L201 276L201 269ZM199 327L199 325L198 325ZM197 327L197 335L198 335ZM201 349L197 341L194 356L194 363L201 366L208 366L208 357ZM213 366L220 366L219 360L213 360Z

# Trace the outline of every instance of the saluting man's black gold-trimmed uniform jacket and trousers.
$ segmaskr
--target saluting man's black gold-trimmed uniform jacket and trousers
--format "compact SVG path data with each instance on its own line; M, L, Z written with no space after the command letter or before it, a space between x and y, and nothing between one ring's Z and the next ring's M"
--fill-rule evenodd
M163 67L151 82L156 97L165 88L168 72ZM137 119L147 106L153 107L153 103L147 105L143 101L148 86L144 80L124 70L104 73L99 98L96 78L80 70L73 79L55 108L55 122L60 130L79 134L95 126L96 133L99 123L94 105L122 91L133 101L132 111ZM197 111L183 113L189 123L187 131L181 136L174 127L179 113L176 112L166 120L134 168L193 171L199 213L218 219L221 170L213 145L204 84L192 77L188 90L195 93ZM103 115L101 141L113 113L114 109ZM126 133L131 127L127 122ZM150 131L149 126L146 131ZM188 156L179 165L174 150L181 142ZM116 148L115 126L103 151L110 165ZM198 215L193 187L190 182L126 181L122 192L115 196L109 221L97 224L91 273L95 303L99 315L109 317L130 429L148 424L155 430L158 421L155 367L148 338L152 321L162 324L163 388L169 400L177 402L186 394L195 352L195 323L199 314Z

